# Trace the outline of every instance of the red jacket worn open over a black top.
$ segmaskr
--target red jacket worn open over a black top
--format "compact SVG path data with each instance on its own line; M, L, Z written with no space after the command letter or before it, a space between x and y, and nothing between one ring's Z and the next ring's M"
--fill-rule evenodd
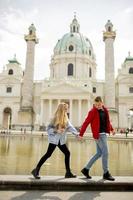
M107 108L105 108L104 106L103 106L103 109L104 109L104 111L106 113L106 117L107 117L106 133L110 133L110 131L113 131L113 127L109 120L109 113L108 113ZM99 117L99 112L95 106L89 111L88 116L86 117L85 121L82 124L82 127L80 129L81 137L83 136L83 134L86 131L86 128L89 124L91 125L93 138L98 139L99 138L99 130L100 130L100 117Z

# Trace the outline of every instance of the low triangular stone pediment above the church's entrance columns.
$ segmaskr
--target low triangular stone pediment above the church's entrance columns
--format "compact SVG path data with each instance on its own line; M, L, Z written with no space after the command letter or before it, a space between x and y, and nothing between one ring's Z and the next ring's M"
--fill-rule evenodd
M49 94L51 94L51 93L53 93L53 94L67 93L68 94L69 93L71 95L74 93L89 93L89 91L87 88L76 86L71 83L61 83L61 84L57 84L55 86L45 88L43 90L43 93L49 93Z

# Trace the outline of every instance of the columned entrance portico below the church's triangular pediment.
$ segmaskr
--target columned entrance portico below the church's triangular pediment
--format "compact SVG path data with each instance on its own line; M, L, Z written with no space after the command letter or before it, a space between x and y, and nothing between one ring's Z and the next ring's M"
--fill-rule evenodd
M50 119L53 117L59 103L65 102L69 106L68 117L75 127L82 124L89 108L90 102L88 99L42 99L41 100L41 126L46 127Z

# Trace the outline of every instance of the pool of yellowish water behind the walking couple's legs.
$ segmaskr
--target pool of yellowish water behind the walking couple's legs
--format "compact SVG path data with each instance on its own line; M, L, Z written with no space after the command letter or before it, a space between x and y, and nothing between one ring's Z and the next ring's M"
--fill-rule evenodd
M133 141L113 140L109 145L109 167L113 175L133 175ZM47 137L42 136L1 136L0 137L0 174L30 174L38 160L46 152ZM71 169L77 175L95 153L95 142L86 139L77 141L68 137L71 151ZM64 155L56 148L55 152L41 168L41 175L64 175ZM91 175L102 175L101 159L90 171Z

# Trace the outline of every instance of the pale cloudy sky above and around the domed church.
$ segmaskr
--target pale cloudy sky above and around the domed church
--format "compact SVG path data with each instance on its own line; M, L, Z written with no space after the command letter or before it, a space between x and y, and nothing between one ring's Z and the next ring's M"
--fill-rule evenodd
M58 39L69 32L76 12L80 32L94 48L97 78L104 79L104 42L102 33L108 19L116 30L115 72L131 52L133 56L132 0L0 0L0 71L16 54L25 68L24 34L34 23L39 44L36 45L35 79L49 76L49 63Z

